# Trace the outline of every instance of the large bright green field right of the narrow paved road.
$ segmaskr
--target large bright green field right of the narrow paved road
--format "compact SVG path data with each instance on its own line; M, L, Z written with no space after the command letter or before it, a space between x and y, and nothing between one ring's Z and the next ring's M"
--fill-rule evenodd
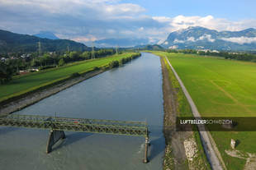
M183 53L154 53L168 57L201 116L256 117L256 63ZM240 170L253 166L256 132L211 131L211 135L227 169ZM239 141L235 148L239 154L232 156L225 151L231 150L231 139ZM246 163L249 158L252 162Z

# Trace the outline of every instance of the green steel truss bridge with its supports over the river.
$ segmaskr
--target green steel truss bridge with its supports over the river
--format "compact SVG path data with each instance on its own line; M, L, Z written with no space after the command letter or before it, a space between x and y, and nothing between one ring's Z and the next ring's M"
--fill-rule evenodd
M145 137L145 158L143 162L148 162L149 131L146 122L11 114L0 117L0 126L50 130L46 153L50 153L53 145L66 137L64 131L142 136Z

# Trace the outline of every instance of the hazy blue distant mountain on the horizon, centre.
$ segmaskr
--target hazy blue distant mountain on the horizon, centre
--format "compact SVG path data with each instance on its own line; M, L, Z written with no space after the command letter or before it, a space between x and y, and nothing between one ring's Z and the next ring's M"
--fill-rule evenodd
M98 47L133 47L135 45L149 44L149 39L101 39L95 41Z

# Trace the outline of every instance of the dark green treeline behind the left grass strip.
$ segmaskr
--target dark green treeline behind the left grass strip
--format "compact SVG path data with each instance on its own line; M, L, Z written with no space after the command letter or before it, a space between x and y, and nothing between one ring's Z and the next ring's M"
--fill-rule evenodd
M100 49L94 52L94 58L106 57L116 53L114 49ZM0 62L0 84L7 83L12 80L12 76L19 74L19 71L28 70L30 68L38 68L44 70L52 67L61 67L69 62L77 62L92 59L92 52L67 52L44 53L40 57L31 57L15 59L9 58L6 62Z

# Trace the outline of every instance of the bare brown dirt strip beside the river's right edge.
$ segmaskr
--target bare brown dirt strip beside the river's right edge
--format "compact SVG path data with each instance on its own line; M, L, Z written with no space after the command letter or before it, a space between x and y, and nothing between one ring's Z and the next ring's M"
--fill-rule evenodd
M173 167L174 169L187 169L186 168L186 153L183 145L184 139L191 136L191 132L175 131L176 117L178 117L178 101L177 92L170 83L168 77L168 69L165 67L164 60L161 58L162 74L163 74L163 92L164 92L164 137L166 149L172 149L172 165L169 163L164 164L166 169ZM169 153L166 150L166 157Z

